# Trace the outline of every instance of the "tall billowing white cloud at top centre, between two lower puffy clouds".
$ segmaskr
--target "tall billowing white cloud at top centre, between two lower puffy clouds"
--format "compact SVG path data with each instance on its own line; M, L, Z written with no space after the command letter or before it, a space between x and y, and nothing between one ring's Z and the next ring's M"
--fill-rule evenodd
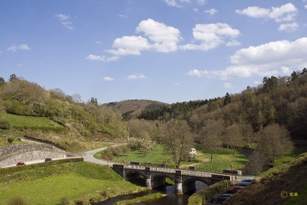
M154 42L150 47L157 52L168 53L176 51L178 49L178 43L182 38L179 29L155 22L155 20L150 18L142 20L136 28L136 31L144 32L145 36Z

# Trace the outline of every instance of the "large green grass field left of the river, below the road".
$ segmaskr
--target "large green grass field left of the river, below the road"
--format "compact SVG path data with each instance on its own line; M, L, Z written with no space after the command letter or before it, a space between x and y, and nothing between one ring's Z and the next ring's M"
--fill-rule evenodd
M59 204L71 201L101 200L118 194L140 191L112 169L89 162L69 162L12 172L0 176L0 204L20 196L29 204Z

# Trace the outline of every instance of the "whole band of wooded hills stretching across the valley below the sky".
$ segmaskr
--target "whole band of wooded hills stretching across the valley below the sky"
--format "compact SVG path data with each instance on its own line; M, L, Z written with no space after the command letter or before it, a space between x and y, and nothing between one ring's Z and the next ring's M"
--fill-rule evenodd
M147 100L147 104L144 104L146 100L120 102L121 107L125 103L134 103L136 107L138 101L146 105L137 117L129 116L131 111L120 113L112 109L111 105L117 102L98 105L97 99L92 97L84 103L78 94L70 96L58 88L46 90L15 74L8 81L0 77L0 95L1 129L10 129L5 113L40 116L62 125L64 135L83 140L116 140L129 134L161 141L159 125L171 119L185 120L196 142L209 145L207 136L217 135L224 146L232 149L251 148L259 142L259 134L272 125L289 132L292 139L306 139L307 133L306 69L293 72L291 76L264 77L262 84L256 87L248 86L240 93L226 93L214 99L172 105L151 100ZM216 126L221 133L210 134L213 132L208 129L210 126Z

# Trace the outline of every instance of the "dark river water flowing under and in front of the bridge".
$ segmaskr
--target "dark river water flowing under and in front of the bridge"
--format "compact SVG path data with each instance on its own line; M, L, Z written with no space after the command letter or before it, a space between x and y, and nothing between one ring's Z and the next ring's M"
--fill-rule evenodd
M114 205L115 202L120 201L120 200L126 200L126 199L133 199L136 197L140 197L140 196L144 196L147 194L151 194L151 193L156 193L156 192L160 192L162 194L167 194L167 196L164 196L162 198L159 199L153 199L153 200L148 200L148 201L143 201L143 202L139 202L139 203L131 203L131 204L135 204L135 205L148 205L148 204L152 204L152 205L172 205L172 204L178 204L178 205L186 205L188 204L188 199L189 197L195 193L198 192L204 188L207 187L207 185L203 182L200 181L196 181L196 190L191 191L189 193L185 193L183 195L178 195L175 194L176 193L176 186L163 186L163 187L159 187L153 190L147 190L144 192L140 192L137 194L128 194L128 195L122 195L122 196L117 196L105 201L102 201L100 203L96 203L95 205Z

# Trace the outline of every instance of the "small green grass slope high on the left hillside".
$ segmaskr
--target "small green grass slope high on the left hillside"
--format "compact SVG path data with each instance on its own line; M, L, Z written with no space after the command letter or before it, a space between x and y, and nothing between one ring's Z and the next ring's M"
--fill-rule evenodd
M64 127L46 117L19 116L6 113L5 119L17 129L62 131Z

